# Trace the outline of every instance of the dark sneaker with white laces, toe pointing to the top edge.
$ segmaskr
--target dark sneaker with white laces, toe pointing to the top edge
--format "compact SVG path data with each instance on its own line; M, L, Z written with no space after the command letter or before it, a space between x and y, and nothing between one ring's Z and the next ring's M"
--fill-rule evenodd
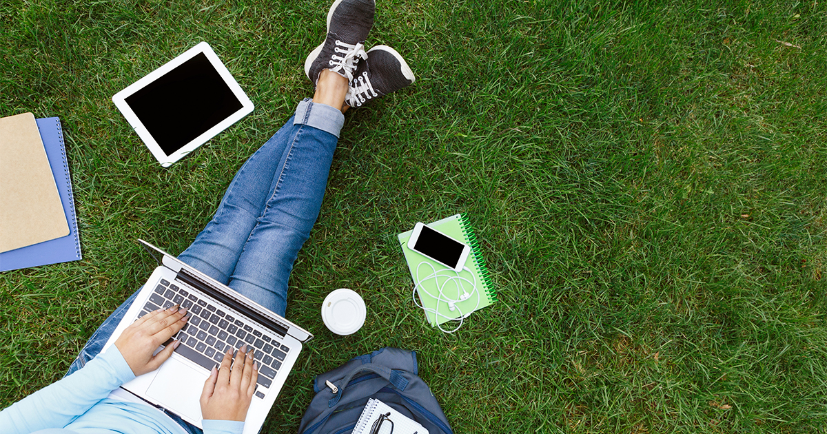
M330 69L348 81L360 60L367 59L365 40L373 26L374 0L336 0L327 12L327 37L304 60L304 74L313 87L322 69Z

